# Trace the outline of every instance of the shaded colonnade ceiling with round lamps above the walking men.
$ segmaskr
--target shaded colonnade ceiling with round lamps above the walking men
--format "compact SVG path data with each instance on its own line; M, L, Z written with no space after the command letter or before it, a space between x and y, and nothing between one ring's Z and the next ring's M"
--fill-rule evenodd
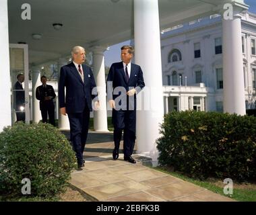
M162 30L210 15L224 0L158 2ZM31 19L22 19L23 3L30 5ZM86 48L110 46L133 38L133 0L8 0L8 18L9 42L28 44L30 64L67 56L77 44ZM56 23L62 28L55 30ZM32 34L42 38L35 40Z

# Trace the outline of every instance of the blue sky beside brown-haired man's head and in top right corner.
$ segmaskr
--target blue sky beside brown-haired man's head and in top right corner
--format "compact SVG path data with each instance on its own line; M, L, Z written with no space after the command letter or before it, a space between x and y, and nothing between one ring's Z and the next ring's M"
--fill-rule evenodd
M245 3L250 6L249 12L256 13L256 0L245 0ZM113 62L120 62L121 47L129 44L130 44L130 40L127 40L125 42L121 42L119 44L110 46L109 50L106 50L104 52L106 66L110 67L111 64L113 64Z

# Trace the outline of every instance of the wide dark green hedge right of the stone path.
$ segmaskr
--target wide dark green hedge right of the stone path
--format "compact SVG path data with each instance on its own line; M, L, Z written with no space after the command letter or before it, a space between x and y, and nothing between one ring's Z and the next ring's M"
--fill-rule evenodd
M243 181L256 177L256 118L216 112L171 112L157 140L161 165L189 176Z

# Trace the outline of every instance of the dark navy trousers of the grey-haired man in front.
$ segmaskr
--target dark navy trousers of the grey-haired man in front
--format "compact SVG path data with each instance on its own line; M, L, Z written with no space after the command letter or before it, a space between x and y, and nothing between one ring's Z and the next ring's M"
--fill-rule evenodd
M75 151L77 164L82 165L83 153L88 136L90 110L86 105L84 112L67 114L69 117L70 140Z

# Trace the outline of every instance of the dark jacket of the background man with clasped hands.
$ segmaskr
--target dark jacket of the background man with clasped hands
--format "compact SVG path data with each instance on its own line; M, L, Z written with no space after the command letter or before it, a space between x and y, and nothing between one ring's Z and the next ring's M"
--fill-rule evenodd
M44 100L44 97L51 96L52 99ZM40 110L44 108L45 105L53 105L53 99L55 99L56 94L52 85L46 85L46 89L44 89L43 85L36 87L36 99L40 100Z

